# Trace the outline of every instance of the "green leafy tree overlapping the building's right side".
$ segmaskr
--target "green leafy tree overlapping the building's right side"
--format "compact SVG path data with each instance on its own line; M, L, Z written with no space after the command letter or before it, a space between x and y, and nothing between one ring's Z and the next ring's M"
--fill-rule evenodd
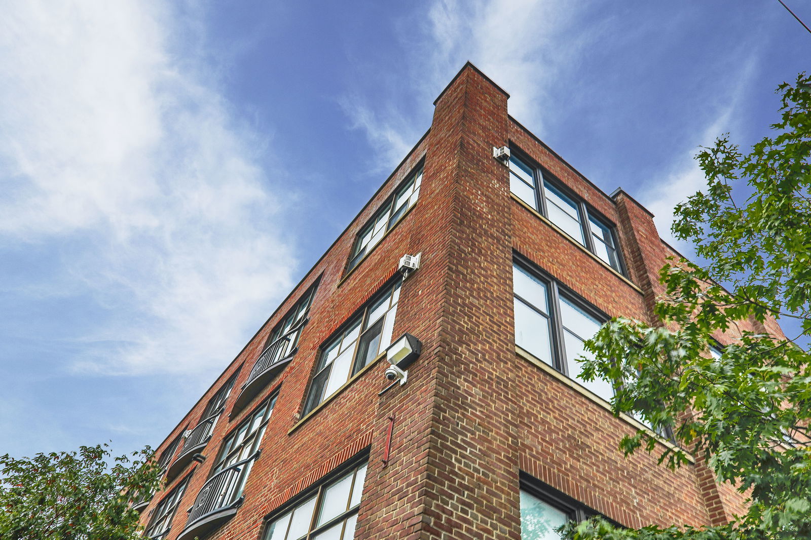
M589 521L567 526L568 538L811 538L811 356L797 345L811 336L811 78L800 74L777 92L775 136L744 155L725 135L697 156L706 189L676 207L672 230L706 264L672 259L660 274L659 324L613 319L586 346L594 360L583 362L584 378L622 382L615 414L637 411L654 429L671 427L681 448L749 497L748 511L699 529ZM796 319L800 335L742 332L720 357L710 354L714 333L769 317ZM662 447L640 431L620 448ZM684 450L667 449L659 462L679 467Z

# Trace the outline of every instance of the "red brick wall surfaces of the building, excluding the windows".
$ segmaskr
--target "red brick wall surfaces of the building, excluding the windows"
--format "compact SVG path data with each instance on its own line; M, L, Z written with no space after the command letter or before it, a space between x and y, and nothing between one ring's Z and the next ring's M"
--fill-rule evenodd
M165 536L177 538L222 441L275 393L242 504L207 531L208 538L259 540L268 516L363 452L368 469L354 538L518 540L520 472L631 527L719 523L740 512L740 495L717 486L701 462L674 472L644 452L625 459L617 444L637 429L636 421L614 418L604 401L517 353L515 254L607 315L650 320L661 292L658 271L672 248L645 208L623 191L605 195L509 117L507 102L508 95L470 64L453 79L436 101L431 129L158 448L160 454L185 426L200 422L209 397L239 371L225 413L200 450L206 459L190 461L153 497L144 524L165 494L192 474ZM510 194L508 168L492 157L492 148L501 146L520 148L616 225L625 276ZM418 201L347 272L358 230L418 165L424 167ZM388 362L377 358L303 417L324 341L398 275L402 255L418 252L421 268L401 285L393 330L423 343L407 383L380 394L389 384ZM268 334L315 281L294 358L229 418ZM768 330L779 332L776 325Z

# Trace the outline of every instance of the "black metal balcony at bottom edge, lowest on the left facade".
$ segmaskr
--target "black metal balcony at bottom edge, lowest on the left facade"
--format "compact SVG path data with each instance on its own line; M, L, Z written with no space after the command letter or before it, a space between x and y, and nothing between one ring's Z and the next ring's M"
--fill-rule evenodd
M242 504L242 488L251 472L251 465L259 458L260 452L257 450L247 459L208 478L189 510L186 527L178 535L178 540L205 538L234 517Z

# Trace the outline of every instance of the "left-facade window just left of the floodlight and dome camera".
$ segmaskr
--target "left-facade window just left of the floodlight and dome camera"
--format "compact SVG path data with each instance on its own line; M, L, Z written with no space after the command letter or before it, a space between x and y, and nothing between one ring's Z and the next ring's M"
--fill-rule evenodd
M321 347L304 414L332 396L391 344L400 285L400 280L388 285Z

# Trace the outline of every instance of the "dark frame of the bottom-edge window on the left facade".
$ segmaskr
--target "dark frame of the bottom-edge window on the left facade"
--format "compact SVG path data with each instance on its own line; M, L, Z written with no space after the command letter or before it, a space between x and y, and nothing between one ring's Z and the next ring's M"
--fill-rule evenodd
M354 458L345 461L343 464L338 465L335 469L333 469L333 471L324 476L324 478L321 478L320 481L315 484L315 486L311 486L307 490L295 495L292 499L281 505L281 507L269 513L268 516L265 516L260 539L270 540L268 537L271 530L270 525L284 517L285 514L290 513L292 515L295 510L302 507L303 504L309 502L311 499L313 499L313 497L315 497L315 504L312 509L310 525L307 529L307 533L303 537L298 536L296 538L285 538L285 540L299 540L299 538L303 538L303 540L311 540L311 538L315 538L319 534L324 533L334 525L337 525L342 521L345 522L352 516L357 516L358 512L360 511L360 506L363 504L363 487L366 484L366 478L369 474L369 465L370 462L368 450L361 452L358 456L355 456ZM366 468L366 471L363 474L363 485L360 486L361 491L358 504L346 509L345 512L341 512L341 514L337 516L333 516L333 518L330 520L325 521L323 525L317 525L321 507L324 503L324 492L329 487L336 485L338 482L341 482L341 480L352 474L352 483L350 484L350 499L347 500L347 503L350 504L351 496L354 493L355 482L358 480L358 470L362 469L363 467ZM288 528L285 530L285 537L290 532L290 521L287 522L287 527ZM344 536L345 532L345 529L342 530L342 534ZM350 538L354 538L354 534ZM345 540L350 540L350 538L345 538Z

